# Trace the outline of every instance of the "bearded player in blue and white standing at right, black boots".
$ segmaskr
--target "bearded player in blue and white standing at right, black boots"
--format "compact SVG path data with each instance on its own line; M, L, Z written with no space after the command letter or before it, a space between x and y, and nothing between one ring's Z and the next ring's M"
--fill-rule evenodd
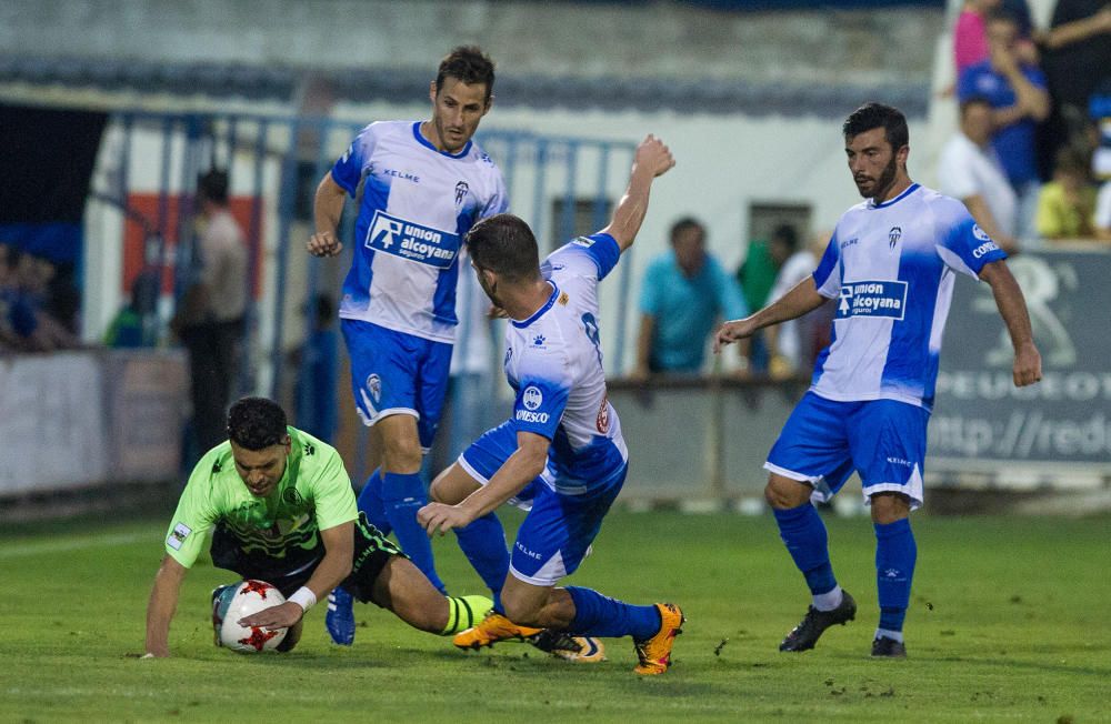
M764 463L764 495L813 595L779 648L813 648L823 631L857 613L833 576L825 526L810 503L830 500L857 471L875 529L880 621L872 656L902 657L918 555L909 515L922 504L925 428L955 274L991 285L1014 346L1017 386L1041 379L1041 356L1007 254L960 201L908 177L903 114L868 103L842 132L867 201L841 217L812 276L755 314L727 322L714 351L837 300L833 342Z

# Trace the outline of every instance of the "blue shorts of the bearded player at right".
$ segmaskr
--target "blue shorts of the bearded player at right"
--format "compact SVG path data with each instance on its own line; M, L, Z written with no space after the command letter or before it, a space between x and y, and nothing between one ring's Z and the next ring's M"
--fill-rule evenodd
M764 469L808 483L812 500L833 497L853 471L865 501L894 491L922 504L930 412L894 400L834 402L808 392L794 408Z

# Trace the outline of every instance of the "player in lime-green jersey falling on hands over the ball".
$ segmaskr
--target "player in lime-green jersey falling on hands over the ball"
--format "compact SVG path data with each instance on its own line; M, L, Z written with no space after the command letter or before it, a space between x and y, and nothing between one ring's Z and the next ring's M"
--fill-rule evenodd
M304 613L338 586L416 629L443 635L467 629L489 610L484 596L444 597L367 523L339 453L287 426L277 403L238 401L228 413L228 435L201 457L173 514L147 607L148 656L170 655L181 581L210 531L213 565L267 581L288 599L241 621L290 626L278 651L297 645Z

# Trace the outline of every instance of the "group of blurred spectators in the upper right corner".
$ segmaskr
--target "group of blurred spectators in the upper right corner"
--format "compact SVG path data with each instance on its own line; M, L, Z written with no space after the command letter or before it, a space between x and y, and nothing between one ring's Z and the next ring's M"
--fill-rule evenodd
M1011 252L1111 241L1111 3L1060 0L1039 31L1024 0L967 0L953 61L939 190Z

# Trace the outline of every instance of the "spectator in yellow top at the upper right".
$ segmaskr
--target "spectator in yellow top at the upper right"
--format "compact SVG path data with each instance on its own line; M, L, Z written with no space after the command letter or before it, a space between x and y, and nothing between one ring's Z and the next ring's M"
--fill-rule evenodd
M1038 200L1038 233L1045 239L1090 239L1095 235L1095 189L1088 177L1088 159L1074 149L1057 154L1053 180Z

